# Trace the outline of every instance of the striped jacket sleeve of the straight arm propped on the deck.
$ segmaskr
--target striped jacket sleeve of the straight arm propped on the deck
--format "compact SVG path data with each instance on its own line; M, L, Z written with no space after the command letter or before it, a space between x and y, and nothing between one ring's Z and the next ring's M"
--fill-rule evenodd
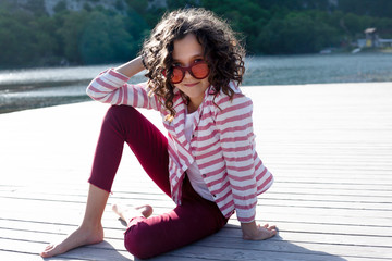
M216 124L226 173L232 188L234 208L240 222L255 220L257 204L257 182L255 177L255 149L253 132L253 103L242 94L235 94L217 103Z

